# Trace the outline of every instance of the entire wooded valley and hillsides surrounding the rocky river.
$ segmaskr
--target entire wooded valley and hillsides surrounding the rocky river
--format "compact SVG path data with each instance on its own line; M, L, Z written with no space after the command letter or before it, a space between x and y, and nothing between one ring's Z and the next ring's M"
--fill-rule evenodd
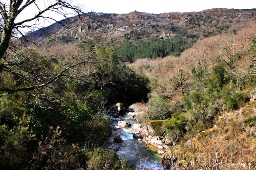
M140 105L164 169L256 167L255 10L85 14L60 2L46 9L78 16L27 35L30 20L15 18L29 4L0 3L1 169L136 169L105 148L119 102Z

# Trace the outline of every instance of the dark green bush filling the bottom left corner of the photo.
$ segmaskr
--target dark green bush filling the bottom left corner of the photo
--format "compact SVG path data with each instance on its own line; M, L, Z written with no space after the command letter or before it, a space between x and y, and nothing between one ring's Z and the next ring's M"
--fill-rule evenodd
M13 128L0 125L0 169L20 169L32 160L35 136L28 129L29 117L17 119Z

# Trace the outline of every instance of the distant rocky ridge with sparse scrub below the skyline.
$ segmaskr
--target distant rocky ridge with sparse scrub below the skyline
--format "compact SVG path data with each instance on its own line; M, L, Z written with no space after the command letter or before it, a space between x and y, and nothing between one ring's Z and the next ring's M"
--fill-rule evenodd
M163 14L148 14L130 12L128 14L93 13L90 17L84 16L83 22L78 16L69 20L71 30L65 29L62 24L52 24L42 30L30 33L33 41L50 47L54 41L79 44L95 40L98 45L117 45L124 40L157 40L181 36L192 41L224 32L236 33L240 28L250 25L255 20L256 9L209 9L202 12L172 12ZM52 37L44 34L50 33Z

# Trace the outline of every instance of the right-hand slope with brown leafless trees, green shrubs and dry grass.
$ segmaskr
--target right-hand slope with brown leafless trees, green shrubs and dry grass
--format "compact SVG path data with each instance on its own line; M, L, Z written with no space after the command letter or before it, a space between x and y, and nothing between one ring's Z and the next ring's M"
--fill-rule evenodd
M255 26L128 64L150 78L149 119L167 119L167 169L255 168Z

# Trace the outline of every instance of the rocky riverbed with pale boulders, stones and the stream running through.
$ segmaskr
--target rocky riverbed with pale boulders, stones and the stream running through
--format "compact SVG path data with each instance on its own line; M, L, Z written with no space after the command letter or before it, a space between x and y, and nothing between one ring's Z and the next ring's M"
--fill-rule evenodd
M163 170L161 154L166 147L157 136L150 135L150 127L142 127L137 121L142 111L136 104L127 110L118 103L110 110L113 121L112 137L108 141L108 149L114 150L120 158L128 160L137 169ZM154 147L152 147L154 146Z

